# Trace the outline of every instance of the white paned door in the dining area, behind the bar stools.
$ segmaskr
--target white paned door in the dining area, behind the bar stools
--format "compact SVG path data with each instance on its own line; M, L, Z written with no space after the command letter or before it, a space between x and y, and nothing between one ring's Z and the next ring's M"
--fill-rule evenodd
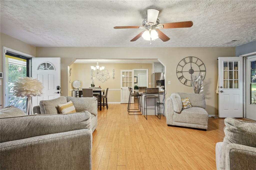
M121 70L121 103L128 103L129 101L129 89L128 87L134 87L134 70ZM132 97L131 103L134 103L134 97Z

